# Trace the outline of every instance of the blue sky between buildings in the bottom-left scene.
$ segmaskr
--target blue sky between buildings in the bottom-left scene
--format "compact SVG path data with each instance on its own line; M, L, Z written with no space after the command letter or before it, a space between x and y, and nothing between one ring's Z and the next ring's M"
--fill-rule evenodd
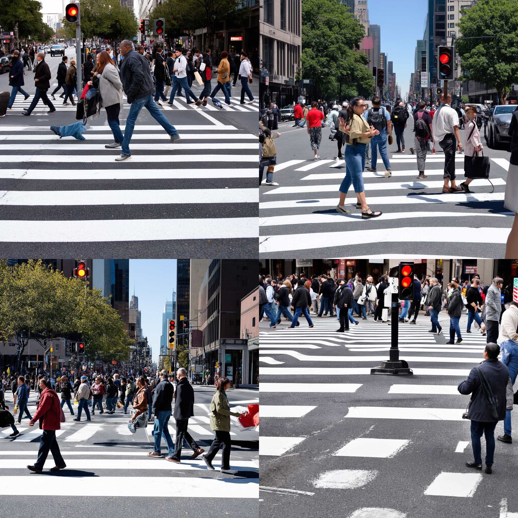
M130 259L130 300L133 286L142 332L148 337L153 361L158 363L165 301L176 292L176 259Z

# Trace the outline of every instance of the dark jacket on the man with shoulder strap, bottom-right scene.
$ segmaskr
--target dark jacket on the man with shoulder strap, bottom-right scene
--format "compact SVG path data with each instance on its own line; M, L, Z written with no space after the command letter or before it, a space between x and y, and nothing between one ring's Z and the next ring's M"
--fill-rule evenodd
M506 418L507 407L507 382L509 369L497 358L484 360L478 368L483 372L495 397L498 421ZM457 390L461 394L473 394L469 405L468 416L471 421L494 422L495 420L488 409L484 391L477 367L473 367L466 380L458 384Z

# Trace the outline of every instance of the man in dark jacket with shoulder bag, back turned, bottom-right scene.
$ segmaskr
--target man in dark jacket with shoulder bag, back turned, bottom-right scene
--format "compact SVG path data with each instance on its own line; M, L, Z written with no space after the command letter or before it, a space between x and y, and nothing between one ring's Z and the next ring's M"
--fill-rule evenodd
M482 469L480 438L486 439L486 473L492 473L495 454L495 426L506 417L506 409L512 409L513 389L509 369L498 360L500 348L496 343L488 343L484 349L484 362L473 367L466 380L459 383L461 394L472 394L468 419L471 421L471 448L474 462L467 462L468 468ZM482 377L483 376L483 377ZM485 384L487 381L487 385ZM484 385L482 385L484 383ZM488 404L487 393L494 404ZM508 402L509 400L509 402Z

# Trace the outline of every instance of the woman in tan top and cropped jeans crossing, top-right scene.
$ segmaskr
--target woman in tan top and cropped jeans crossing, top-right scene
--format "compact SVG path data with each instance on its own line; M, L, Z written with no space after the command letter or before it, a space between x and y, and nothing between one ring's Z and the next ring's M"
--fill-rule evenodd
M336 207L337 212L342 214L350 214L351 211L346 209L347 191L351 186L354 187L356 193L356 208L362 209L362 219L377 218L381 216L381 211L372 212L367 205L365 199L365 189L363 185L363 170L365 168L365 146L370 142L370 139L380 132L374 126L370 126L362 117L364 112L365 100L363 97L355 97L347 107L347 120L343 121L344 133L349 134L349 140L346 143L346 150L344 152L346 159L346 176L340 185L340 200Z

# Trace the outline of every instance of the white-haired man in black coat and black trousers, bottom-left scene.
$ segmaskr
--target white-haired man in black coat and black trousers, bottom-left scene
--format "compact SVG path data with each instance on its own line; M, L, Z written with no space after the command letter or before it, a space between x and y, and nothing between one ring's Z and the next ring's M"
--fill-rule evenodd
M194 389L187 379L187 371L180 367L177 371L178 385L175 392L175 413L176 419L176 444L175 452L172 456L166 457L168 461L180 464L180 456L182 454L183 439L188 442L194 452L190 458L194 459L201 455L205 450L200 448L196 441L191 437L187 430L189 426L189 418L194 415Z

